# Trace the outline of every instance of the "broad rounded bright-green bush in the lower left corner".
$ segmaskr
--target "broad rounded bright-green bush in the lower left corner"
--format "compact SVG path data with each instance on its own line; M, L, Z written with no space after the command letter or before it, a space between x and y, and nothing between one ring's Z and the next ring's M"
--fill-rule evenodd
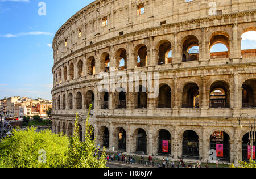
M13 130L13 136L3 139L0 143L0 167L63 167L67 163L68 146L68 137L53 134L50 130L39 133L35 128Z

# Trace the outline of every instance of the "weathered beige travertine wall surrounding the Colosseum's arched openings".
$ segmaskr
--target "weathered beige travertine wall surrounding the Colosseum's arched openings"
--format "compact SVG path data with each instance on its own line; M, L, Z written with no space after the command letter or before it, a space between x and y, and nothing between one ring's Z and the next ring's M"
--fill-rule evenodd
M112 146L118 150L118 130L122 127L126 131L127 153L136 152L138 130L144 129L147 154L154 155L158 151L159 131L166 129L172 137L171 156L178 159L183 155L184 132L193 130L199 138L199 159L207 161L210 136L221 130L230 138L230 162L241 160L242 138L247 127L238 129L237 118L241 113L248 113L251 117L256 115L255 108L242 107L243 84L256 83L256 57L250 50L241 53L241 36L256 29L256 2L213 2L217 5L217 15L209 14L209 2L202 0L188 3L177 0L105 0L94 1L72 16L53 39L53 132L63 131L71 135L76 113L82 129L85 129L93 94L90 123L99 144L102 144L103 137L101 129L108 128L110 151ZM142 4L144 14L138 15L138 5ZM102 18L105 17L108 25L102 27ZM160 25L164 21L166 24ZM184 47L188 46L189 40L196 41L199 46L198 59L183 62L183 54L188 55ZM159 54L163 58L159 48L165 42L171 44L171 63L159 65ZM226 56L211 56L210 48L217 42L227 46ZM142 46L146 46L143 54L139 51ZM125 59L123 69L119 69L121 52L126 52L122 57ZM137 109L138 93L127 92L126 109L118 109L119 93L109 92L108 109L102 109L104 93L97 90L97 77L104 71L108 55L109 66L116 69L114 73L158 72L159 87L167 85L171 89L170 108L159 108L159 97L147 97L147 108ZM140 65L138 55L143 58ZM227 108L210 108L210 92L217 83L226 88ZM189 91L189 86L198 88L198 108L184 107L187 101L184 89ZM255 86L253 93L256 94ZM249 123L247 118L243 123L244 126Z

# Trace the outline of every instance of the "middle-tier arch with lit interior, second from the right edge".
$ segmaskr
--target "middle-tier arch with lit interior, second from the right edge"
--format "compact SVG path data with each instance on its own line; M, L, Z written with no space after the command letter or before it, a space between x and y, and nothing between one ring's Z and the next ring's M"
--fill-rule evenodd
M230 87L224 80L216 80L210 86L210 108L230 108Z

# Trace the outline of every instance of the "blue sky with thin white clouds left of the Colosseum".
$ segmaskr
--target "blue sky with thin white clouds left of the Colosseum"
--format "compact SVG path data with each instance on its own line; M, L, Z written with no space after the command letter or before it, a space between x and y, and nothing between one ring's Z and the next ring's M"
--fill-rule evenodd
M0 0L0 99L51 99L52 39L62 24L93 0L43 0L46 16L38 15L39 2ZM250 49L256 40L248 38L245 48Z

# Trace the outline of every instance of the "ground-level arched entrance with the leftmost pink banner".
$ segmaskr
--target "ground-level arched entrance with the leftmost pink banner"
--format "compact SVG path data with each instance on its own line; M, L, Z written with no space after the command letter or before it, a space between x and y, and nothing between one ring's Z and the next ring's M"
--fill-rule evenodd
M171 155L172 149L171 134L168 130L162 129L159 131L158 137L158 154L169 154Z

